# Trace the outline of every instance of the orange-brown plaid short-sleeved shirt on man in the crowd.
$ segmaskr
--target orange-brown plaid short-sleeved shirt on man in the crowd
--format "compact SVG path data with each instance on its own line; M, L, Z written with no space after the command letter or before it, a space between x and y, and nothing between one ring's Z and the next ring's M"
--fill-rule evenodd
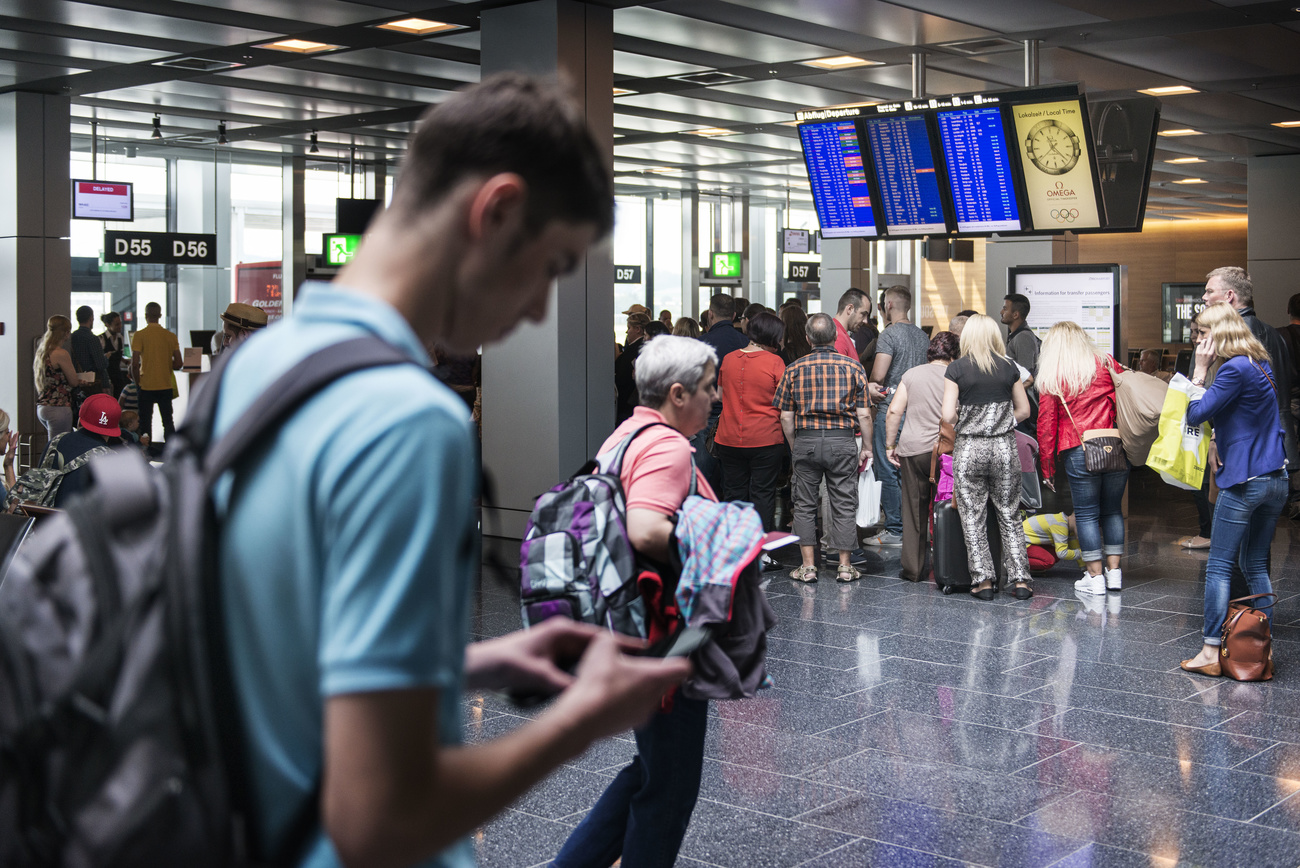
M772 407L793 411L796 429L835 430L857 428L857 411L867 405L867 372L857 359L835 347L812 352L785 369Z

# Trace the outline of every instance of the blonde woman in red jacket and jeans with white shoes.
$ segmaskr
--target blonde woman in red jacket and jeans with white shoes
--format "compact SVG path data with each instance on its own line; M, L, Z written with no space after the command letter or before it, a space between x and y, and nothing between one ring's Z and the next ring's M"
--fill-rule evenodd
M1054 490L1057 457L1070 479L1074 518L1087 573L1074 583L1080 594L1118 591L1124 554L1121 504L1128 485L1123 470L1092 473L1083 456L1083 433L1115 428L1115 383L1109 370L1119 364L1101 352L1078 322L1057 322L1039 352L1039 460L1043 479Z

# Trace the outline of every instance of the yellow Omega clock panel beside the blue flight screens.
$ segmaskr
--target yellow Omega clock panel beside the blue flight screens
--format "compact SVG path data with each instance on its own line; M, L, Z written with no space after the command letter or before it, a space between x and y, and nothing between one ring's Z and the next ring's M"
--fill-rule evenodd
M1011 116L1034 229L1100 227L1092 146L1079 100L1013 105Z

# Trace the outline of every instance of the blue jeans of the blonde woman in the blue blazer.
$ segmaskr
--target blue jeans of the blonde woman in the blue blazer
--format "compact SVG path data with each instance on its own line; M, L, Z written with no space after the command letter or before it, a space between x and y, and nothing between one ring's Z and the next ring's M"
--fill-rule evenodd
M1242 565L1252 594L1271 594L1269 546L1278 516L1287 504L1290 483L1284 470L1256 477L1219 491L1210 531L1210 556L1205 564L1205 645L1218 645L1227 617L1232 561ZM1258 607L1273 615L1273 607Z

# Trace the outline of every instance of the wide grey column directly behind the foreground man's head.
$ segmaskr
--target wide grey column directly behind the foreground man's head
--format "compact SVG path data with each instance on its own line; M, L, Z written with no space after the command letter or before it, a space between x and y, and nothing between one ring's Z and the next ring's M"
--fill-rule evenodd
M559 75L614 162L614 13L575 0L482 12L482 75ZM484 347L484 466L497 483L489 535L523 537L533 500L614 430L614 259L608 242L558 281L546 320Z

